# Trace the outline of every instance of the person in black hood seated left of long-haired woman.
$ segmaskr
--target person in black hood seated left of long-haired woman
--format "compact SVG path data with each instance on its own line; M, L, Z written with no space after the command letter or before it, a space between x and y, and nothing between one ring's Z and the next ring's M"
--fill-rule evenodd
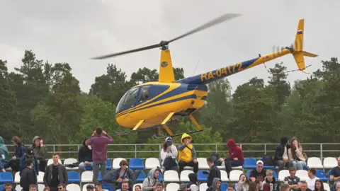
M276 147L274 161L276 166L278 166L278 172L283 170L284 167L289 168L291 166L290 162L288 161L288 149L290 148L288 144L287 137L281 137L280 144Z

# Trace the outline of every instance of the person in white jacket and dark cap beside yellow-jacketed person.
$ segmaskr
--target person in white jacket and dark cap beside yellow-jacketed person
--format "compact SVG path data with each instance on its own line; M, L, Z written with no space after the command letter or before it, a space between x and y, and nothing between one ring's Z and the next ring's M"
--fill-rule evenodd
M165 170L170 170L174 166L177 166L176 157L178 154L179 151L177 151L176 146L172 144L171 137L166 137L161 150L162 167L165 168Z

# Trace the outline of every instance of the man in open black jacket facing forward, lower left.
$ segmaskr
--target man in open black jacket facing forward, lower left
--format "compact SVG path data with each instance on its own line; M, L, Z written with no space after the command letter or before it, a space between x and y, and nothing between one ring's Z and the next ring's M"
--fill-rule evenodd
M53 163L46 167L44 175L45 186L52 190L58 190L59 184L67 185L68 175L66 167L59 163L59 154L53 154Z

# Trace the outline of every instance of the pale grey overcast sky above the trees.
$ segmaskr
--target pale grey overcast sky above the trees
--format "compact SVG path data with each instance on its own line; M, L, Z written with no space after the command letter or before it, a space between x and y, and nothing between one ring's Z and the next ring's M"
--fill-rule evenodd
M208 30L170 44L175 67L185 76L267 54L273 45L290 45L300 18L305 18L305 47L319 57L305 59L307 70L321 68L321 60L340 57L339 0L0 0L0 59L8 69L21 65L25 50L38 59L68 62L88 92L96 76L106 73L108 63L117 64L130 78L144 66L159 67L159 50L147 50L105 60L90 57L153 45L186 33L223 13L241 13ZM266 63L283 62L288 70L297 69L293 56ZM197 68L196 68L197 65ZM268 81L263 65L229 76L233 91L252 77ZM288 79L305 79L295 71Z

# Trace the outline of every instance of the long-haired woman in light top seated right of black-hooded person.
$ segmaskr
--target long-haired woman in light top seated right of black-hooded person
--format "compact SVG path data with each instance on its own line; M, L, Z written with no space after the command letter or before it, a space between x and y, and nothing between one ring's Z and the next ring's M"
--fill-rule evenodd
M306 166L306 159L302 146L296 137L293 137L290 148L288 149L288 160L291 165L297 170L303 170L303 166Z

